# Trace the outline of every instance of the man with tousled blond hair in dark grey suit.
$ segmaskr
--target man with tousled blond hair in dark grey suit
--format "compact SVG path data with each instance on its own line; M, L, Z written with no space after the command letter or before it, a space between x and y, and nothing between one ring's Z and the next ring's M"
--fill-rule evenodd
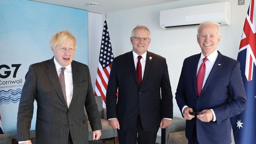
M88 144L88 119L97 140L102 129L89 68L73 61L76 38L60 31L50 40L54 57L30 65L17 118L17 140L31 144L33 103L37 101L37 144Z

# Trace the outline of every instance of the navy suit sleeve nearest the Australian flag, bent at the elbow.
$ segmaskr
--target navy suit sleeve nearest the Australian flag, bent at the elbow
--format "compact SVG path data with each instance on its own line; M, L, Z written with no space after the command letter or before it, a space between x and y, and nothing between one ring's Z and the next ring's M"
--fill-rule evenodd
M241 113L246 107L247 100L239 62L234 65L229 81L228 94L230 95L230 101L213 108L217 124L221 124L223 120Z

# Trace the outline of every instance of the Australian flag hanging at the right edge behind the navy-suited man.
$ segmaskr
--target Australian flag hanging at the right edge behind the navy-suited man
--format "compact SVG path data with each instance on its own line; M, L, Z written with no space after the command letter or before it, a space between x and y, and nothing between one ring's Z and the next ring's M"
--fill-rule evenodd
M243 27L237 61L247 97L245 110L231 118L236 144L255 144L256 140L256 4L251 0Z

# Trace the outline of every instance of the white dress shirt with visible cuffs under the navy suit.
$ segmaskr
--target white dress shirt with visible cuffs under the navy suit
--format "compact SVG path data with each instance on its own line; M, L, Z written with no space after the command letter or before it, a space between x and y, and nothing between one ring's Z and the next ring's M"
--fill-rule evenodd
M209 76L209 74L210 74L210 72L211 72L211 69L212 69L212 67L213 67L213 65L214 65L214 63L215 63L215 61L216 61L218 55L219 55L219 54L218 54L217 50L215 50L213 53L211 53L211 54L208 55L208 57L207 57L208 61L205 62L206 70L205 70L204 82L203 82L203 85L202 85L202 89L203 89L203 87L204 87L204 84L205 84L205 82L206 82L206 80L207 80L207 78L208 78L208 76ZM201 56L200 56L200 59L199 59L199 61L198 61L198 65L197 65L197 73L198 73L198 70L199 70L199 68L200 68L200 65L203 63L203 59L204 59L204 55L201 53ZM182 113L184 113L184 109L185 109L186 107L187 107L187 105L185 105L185 106L182 108ZM210 110L211 110L211 112L212 112L212 114L213 114L213 122L215 122L215 121L216 121L215 113L214 113L213 109L210 109Z

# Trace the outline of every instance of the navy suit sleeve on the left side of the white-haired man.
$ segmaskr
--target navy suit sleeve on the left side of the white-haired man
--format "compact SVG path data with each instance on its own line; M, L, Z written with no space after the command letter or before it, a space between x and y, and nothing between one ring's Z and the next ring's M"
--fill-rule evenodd
M182 108L185 105L187 105L186 92L185 92L185 78L184 78L185 63L186 63L186 59L183 62L178 87L177 87L177 90L176 90L176 93L175 93L175 99L177 101L178 107L180 108L180 112L181 112L182 116L183 116Z

